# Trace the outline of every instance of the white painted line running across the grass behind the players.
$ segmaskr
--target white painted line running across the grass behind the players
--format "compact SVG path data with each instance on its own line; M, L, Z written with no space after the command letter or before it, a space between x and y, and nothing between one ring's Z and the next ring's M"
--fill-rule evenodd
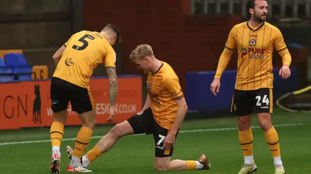
M282 124L282 125L274 125L274 127L294 127L294 126L302 126L306 125L303 123L296 124ZM260 128L259 126L252 126L251 128ZM226 130L237 130L238 127L227 127L227 128L211 128L211 129L195 129L195 130L180 130L179 133L192 133L192 132L214 132L214 131L226 131ZM144 135L144 134L136 134L136 135ZM135 135L131 135L135 136ZM93 136L91 139L100 139L103 136ZM64 138L62 141L72 141L75 138ZM25 142L1 142L1 145L13 145L13 144L27 144L27 143L39 143L39 142L51 142L51 140L35 140L35 141L25 141Z

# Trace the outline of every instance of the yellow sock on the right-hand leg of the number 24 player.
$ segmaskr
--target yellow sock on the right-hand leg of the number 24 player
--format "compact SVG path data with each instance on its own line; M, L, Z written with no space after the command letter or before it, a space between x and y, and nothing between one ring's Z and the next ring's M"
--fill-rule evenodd
M270 148L272 157L279 157L281 155L281 151L276 129L272 127L270 130L263 132L263 134Z

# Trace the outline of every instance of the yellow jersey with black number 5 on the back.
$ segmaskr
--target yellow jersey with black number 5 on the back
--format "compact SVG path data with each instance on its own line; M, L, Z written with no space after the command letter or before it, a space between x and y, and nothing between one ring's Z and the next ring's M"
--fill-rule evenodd
M104 63L106 68L116 68L116 53L99 32L77 32L64 47L53 77L86 88L98 63Z

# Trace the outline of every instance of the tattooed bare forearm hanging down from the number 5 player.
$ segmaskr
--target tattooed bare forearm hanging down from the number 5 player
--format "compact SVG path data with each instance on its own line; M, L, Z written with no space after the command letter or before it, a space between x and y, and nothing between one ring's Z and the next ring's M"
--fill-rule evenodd
M116 104L116 98L118 95L118 78L117 78L116 69L108 68L107 74L109 78L110 106L114 106Z

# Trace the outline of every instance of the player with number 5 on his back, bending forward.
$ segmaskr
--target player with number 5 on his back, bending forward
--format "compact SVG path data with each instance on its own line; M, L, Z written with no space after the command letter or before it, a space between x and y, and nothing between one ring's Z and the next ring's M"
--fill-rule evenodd
M77 112L82 127L75 140L73 157L67 172L91 172L79 163L96 125L96 106L89 86L89 78L99 63L105 64L109 78L110 97L110 117L107 121L112 121L118 93L116 53L112 46L119 44L120 41L119 29L113 24L108 24L101 32L81 31L73 34L53 55L57 67L51 80L51 100L54 113L54 122L51 126L52 160L50 171L52 173L60 172L60 144L67 120L69 101L72 111Z

